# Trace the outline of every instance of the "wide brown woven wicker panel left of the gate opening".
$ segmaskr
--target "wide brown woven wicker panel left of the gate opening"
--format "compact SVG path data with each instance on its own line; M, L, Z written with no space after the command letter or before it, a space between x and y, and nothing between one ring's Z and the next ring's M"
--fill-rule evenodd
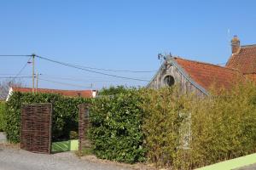
M20 148L50 154L51 104L22 105Z

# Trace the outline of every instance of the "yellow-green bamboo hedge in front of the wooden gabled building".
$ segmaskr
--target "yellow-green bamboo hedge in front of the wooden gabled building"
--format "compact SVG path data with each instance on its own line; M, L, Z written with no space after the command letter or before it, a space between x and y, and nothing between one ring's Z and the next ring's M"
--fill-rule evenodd
M193 169L256 150L256 87L237 85L207 98L175 88L143 91L148 159L160 167Z

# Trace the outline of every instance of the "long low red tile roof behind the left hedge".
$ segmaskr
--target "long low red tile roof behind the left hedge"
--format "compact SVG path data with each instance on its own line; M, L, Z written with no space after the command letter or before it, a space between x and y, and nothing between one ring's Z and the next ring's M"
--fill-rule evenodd
M32 88L14 88L14 92L21 93L32 93ZM38 88L38 93L42 94L61 94L68 97L83 97L83 98L92 98L92 90L58 90L58 89L47 89L47 88Z

